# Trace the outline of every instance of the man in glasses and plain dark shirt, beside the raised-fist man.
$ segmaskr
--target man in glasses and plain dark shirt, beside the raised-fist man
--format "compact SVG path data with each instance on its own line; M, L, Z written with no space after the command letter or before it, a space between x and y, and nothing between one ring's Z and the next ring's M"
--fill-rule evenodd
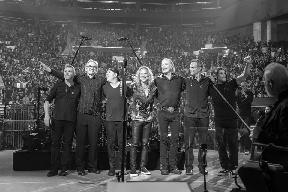
M207 131L209 127L209 106L208 90L211 86L211 79L201 75L203 69L202 61L195 59L191 61L191 77L184 80L186 88L186 103L184 108L184 139L185 139L185 159L186 174L193 175L193 144L196 131L198 131L199 145L207 143ZM204 170L203 150L199 147L198 168L201 174L208 174ZM206 161L206 160L205 160Z

